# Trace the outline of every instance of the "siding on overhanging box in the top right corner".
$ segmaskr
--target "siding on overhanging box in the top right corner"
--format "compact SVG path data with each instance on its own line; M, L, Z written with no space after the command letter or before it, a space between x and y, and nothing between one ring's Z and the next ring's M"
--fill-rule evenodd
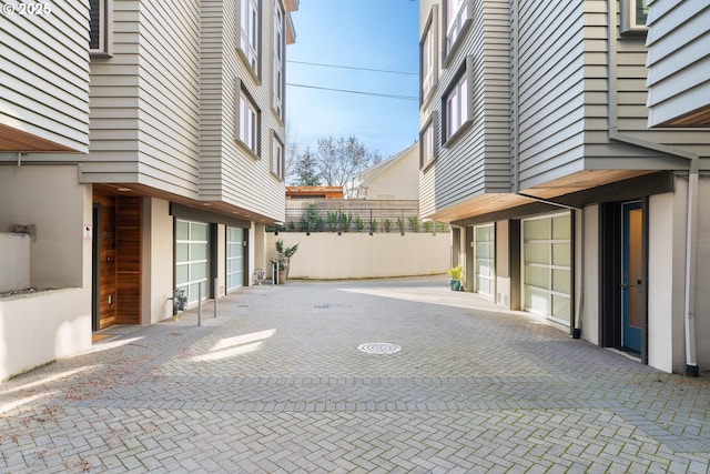
M649 4L649 127L710 104L710 2Z

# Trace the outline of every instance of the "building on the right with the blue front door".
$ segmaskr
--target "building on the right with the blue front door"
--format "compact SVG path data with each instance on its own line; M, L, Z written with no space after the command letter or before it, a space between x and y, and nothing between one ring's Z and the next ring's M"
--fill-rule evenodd
M690 74L678 97L708 104L708 2L649 7L422 0L420 212L454 226L466 291L696 374L710 365L710 134L671 123L668 110L707 115L666 99ZM656 61L673 52L688 67Z

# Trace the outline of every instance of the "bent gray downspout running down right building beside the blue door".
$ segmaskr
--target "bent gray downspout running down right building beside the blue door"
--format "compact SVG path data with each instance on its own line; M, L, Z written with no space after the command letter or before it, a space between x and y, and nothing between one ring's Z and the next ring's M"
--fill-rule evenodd
M697 229L698 229L698 175L700 157L674 147L655 143L648 140L619 133L617 127L617 2L608 2L607 28L609 29L608 50L608 89L609 89L609 140L628 143L648 150L680 157L689 160L688 163L688 215L686 230L686 280L683 301L683 323L686 331L686 374L698 376L698 360L696 354L696 255L697 255ZM648 283L647 283L648 295ZM648 307L648 304L647 304ZM648 316L647 316L648 319Z

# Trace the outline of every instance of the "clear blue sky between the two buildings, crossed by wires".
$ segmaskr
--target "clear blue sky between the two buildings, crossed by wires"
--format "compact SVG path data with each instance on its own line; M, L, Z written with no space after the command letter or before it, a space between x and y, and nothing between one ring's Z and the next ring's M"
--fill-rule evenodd
M418 16L414 0L301 0L296 42L286 50L286 82L384 97L286 88L288 141L357 137L387 158L418 139ZM415 74L302 64L333 64Z

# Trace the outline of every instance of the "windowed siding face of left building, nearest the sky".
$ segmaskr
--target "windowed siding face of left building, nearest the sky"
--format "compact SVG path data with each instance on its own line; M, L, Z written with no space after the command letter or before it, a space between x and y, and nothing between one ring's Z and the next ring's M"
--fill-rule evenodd
M271 173L272 137L285 143L284 125L272 107L272 1L262 3L261 81L239 49L239 2L203 1L200 193L276 221L285 219L284 183ZM236 140L237 84L261 110L261 158Z

